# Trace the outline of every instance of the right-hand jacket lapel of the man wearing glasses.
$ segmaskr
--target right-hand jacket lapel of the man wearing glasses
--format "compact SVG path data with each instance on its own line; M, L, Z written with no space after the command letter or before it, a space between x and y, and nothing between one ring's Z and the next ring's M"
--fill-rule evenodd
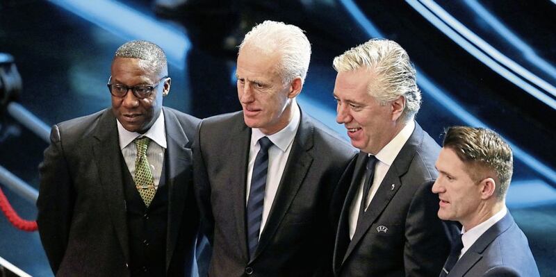
M191 169L191 149L186 148L189 140L183 128L178 124L174 113L164 110L164 123L167 142L167 176L168 186L168 228L166 238L166 269L170 266L172 254L177 244L179 226L183 215L183 207L188 199L188 171Z

